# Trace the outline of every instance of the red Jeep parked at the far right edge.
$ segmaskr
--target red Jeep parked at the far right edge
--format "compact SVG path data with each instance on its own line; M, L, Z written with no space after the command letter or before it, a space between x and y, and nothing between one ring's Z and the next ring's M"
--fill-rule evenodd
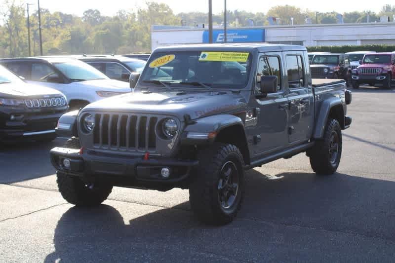
M366 54L360 64L352 71L353 88L359 88L360 84L377 83L391 88L395 81L395 52Z

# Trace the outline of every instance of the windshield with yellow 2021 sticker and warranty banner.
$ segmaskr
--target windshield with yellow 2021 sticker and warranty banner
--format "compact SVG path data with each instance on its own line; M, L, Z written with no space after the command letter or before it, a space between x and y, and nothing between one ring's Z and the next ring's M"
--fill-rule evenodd
M243 88L248 83L251 60L248 52L157 52L147 62L139 83Z

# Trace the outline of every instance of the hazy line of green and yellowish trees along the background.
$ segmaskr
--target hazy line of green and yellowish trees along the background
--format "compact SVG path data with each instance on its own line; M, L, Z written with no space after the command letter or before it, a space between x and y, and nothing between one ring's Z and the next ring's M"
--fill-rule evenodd
M380 20L380 16L395 14L395 5L383 6L379 13L372 11L343 13L344 23L363 23ZM337 23L335 11L316 13L291 5L271 8L266 14L230 10L229 27L268 25L268 17L279 18L280 24L304 24L306 17L312 23ZM174 14L164 3L147 2L136 10L119 10L114 16L104 16L97 9L89 9L82 16L50 12L41 8L42 46L44 55L60 54L124 54L151 51L151 26L207 25L204 12ZM38 12L30 14L32 55L40 54ZM213 15L214 26L223 25L223 14ZM26 4L21 0L5 0L0 6L0 57L28 56Z

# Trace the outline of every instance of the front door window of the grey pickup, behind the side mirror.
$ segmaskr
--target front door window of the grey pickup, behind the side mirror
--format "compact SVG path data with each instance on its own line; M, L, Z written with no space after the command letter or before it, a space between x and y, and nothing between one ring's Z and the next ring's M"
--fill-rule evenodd
M255 93L261 94L260 82L261 76L276 76L277 77L277 91L281 90L281 71L280 60L278 57L261 57L256 74Z

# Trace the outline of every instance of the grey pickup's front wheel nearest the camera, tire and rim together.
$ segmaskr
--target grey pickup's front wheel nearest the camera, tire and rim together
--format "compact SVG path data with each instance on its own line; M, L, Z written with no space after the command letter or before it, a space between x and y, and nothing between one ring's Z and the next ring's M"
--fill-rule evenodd
M243 166L240 150L231 144L215 143L199 153L199 165L193 171L189 189L191 207L197 219L210 225L233 221L244 195Z

